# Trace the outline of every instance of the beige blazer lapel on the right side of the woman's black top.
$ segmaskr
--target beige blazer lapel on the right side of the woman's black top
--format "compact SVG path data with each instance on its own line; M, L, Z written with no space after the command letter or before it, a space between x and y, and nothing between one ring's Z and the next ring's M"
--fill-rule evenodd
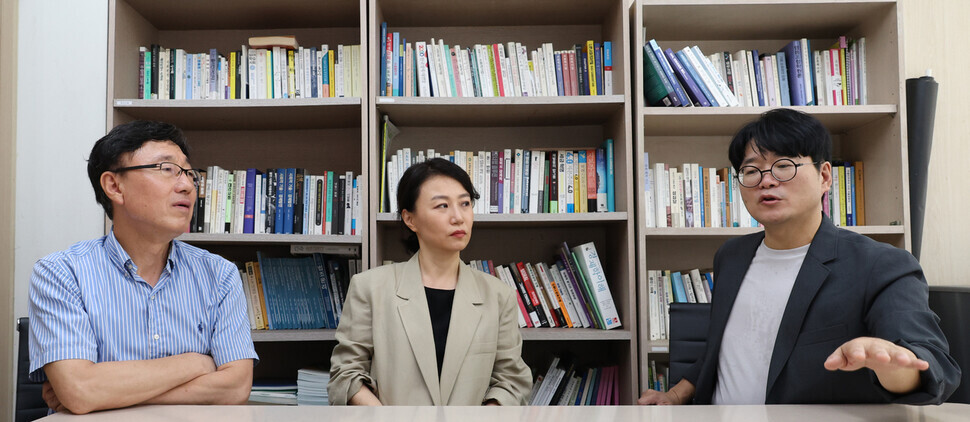
M477 308L477 305L482 304L482 294L472 271L464 263L458 266L458 285L455 287L455 301L451 306L448 344L445 346L445 361L441 365L443 404L448 404L451 399L458 373L482 319L482 313Z

